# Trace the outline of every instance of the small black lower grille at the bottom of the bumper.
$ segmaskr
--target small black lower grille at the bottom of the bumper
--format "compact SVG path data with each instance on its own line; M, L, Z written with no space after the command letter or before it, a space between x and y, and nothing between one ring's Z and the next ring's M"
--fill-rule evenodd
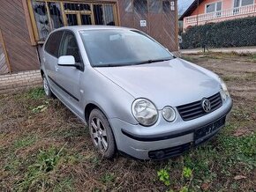
M181 144L175 147L170 147L162 150L149 151L148 157L150 159L168 159L181 155L184 151L187 151L191 148L192 144Z

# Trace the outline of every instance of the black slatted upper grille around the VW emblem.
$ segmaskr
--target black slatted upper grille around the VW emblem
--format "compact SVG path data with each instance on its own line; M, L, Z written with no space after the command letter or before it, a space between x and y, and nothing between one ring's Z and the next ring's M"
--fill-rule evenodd
M179 106L177 107L177 111L184 121L189 121L205 114L209 114L218 109L219 107L222 107L222 97L220 92L206 99L211 102L211 110L209 112L204 111L201 105L201 100Z

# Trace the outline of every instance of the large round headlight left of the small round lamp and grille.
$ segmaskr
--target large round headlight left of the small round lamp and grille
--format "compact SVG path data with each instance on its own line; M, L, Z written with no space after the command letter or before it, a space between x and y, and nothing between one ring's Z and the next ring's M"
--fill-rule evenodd
M135 119L144 126L154 125L158 119L156 107L147 99L134 100L132 103L132 114Z

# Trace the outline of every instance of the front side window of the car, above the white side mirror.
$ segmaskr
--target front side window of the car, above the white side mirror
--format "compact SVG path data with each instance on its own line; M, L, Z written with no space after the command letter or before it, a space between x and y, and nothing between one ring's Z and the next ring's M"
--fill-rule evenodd
M81 63L79 46L75 35L71 32L64 32L59 48L59 56L63 55L72 55L75 58L76 63Z

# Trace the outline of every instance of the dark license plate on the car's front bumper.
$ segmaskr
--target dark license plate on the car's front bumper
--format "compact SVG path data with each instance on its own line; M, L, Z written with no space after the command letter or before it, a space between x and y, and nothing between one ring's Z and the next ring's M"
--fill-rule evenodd
M211 122L200 129L196 129L194 132L194 141L195 144L199 144L205 139L207 139L207 136L213 133L216 129L219 129L222 127L222 125L225 124L226 117L222 117L221 119L218 119L215 122Z

